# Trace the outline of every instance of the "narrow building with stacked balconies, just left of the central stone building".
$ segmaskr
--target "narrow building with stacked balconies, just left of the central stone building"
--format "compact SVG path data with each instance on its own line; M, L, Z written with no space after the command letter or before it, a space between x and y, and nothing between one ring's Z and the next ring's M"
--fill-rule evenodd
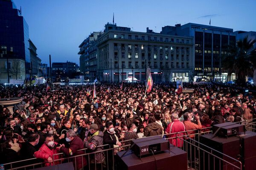
M91 79L91 74L90 74L90 46L93 42L95 42L99 36L99 34L102 34L100 32L93 32L92 34L89 35L80 45L80 51L78 54L80 54L80 70L81 73L84 75L84 79L86 81L90 81ZM97 57L97 56L96 56ZM95 60L93 58L93 60Z

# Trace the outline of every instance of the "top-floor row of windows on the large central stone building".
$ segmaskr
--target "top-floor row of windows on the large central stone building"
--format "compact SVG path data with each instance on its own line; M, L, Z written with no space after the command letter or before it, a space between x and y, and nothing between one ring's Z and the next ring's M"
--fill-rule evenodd
M114 34L114 38L119 38L119 39L129 39L129 40L148 40L148 41L161 41L161 42L176 42L176 43L187 43L189 44L189 40L184 40L184 39L175 39L174 38L164 38L164 37L151 37L151 36L138 36L138 35L125 35L125 34ZM170 41L169 41L170 40Z

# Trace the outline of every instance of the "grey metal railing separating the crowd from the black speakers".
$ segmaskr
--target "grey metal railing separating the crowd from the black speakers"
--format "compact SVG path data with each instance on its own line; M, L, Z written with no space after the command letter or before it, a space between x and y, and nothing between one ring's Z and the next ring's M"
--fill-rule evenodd
M254 119L254 120L256 120L256 119ZM251 123L246 123L246 124L252 125L253 127L251 127L251 128L256 131L256 128L254 127L256 124L254 124L254 123L256 123L256 122L252 121ZM211 129L211 127L206 127L206 128L203 128L202 130L204 130L204 129ZM199 137L201 135L204 135L204 134L207 134L207 133L212 133L211 130L206 131L206 132L201 131L201 130L196 130L196 133L192 133L192 134L189 134L189 135L184 135L185 133L187 133L189 131L195 131L195 130L187 130L187 131L183 131L183 132L179 132L179 133L168 133L168 134L164 134L164 135L159 135L159 136L166 136L166 137L172 136L172 135L176 135L175 137L166 138L166 140L174 139L174 140L177 140L177 141L180 140L180 141L183 142L183 145L182 146L178 146L178 147L180 147L180 149L182 149L182 150L184 150L184 151L189 153L188 154L188 160L189 160L188 169L194 168L194 169L199 169L200 170L200 163L201 163L201 161L203 161L203 165L201 165L201 166L204 166L203 169L211 169L212 167L210 167L210 165L209 165L208 168L205 168L205 163L204 163L205 160L204 159L203 160L199 159L200 158L200 154L203 154L203 158L205 156L208 156L208 159L207 159L208 162L209 162L209 158L212 157L214 162L216 160L218 160L218 162L220 164L229 165L229 166L233 167L234 170L241 170L241 162L240 161L238 161L236 159L233 159L230 156L224 155L223 153L221 153L221 152L219 152L217 150L214 150L214 149L212 149L210 147L207 147L206 145L201 144L199 142ZM191 138L188 137L188 136L191 136L191 135L195 136L194 139L191 139ZM145 138L147 138L147 137L145 137ZM122 143L131 141L131 140L133 140L133 139L122 141ZM89 170L91 170L91 169L94 169L94 167L96 167L96 166L100 166L103 169L104 168L112 169L115 166L114 150L115 149L127 150L129 148L129 146L130 146L130 144L127 144L127 145L123 144L120 147L110 148L109 144L104 144L104 145L101 145L101 146L98 146L98 147L105 147L105 148L109 147L109 149L99 150L99 151L96 151L96 152L90 152L89 149L84 148L84 149L81 149L81 150L77 150L77 151L84 151L84 153L82 155L70 156L70 157L65 157L64 153L58 153L58 154L54 154L52 156L52 160L53 160L53 162L61 161L61 163L64 163L65 161L69 162L69 161L72 160L75 163L74 167L75 167L75 170L76 170L77 169L76 168L76 159L79 158L79 157L82 158L83 156L85 156L87 158L87 160L88 160L88 165L87 165L86 169L89 168ZM98 148L98 147L96 147L96 148ZM201 148L201 147L203 147L204 149ZM194 148L194 150L195 150L194 157L192 156L192 153L188 150L188 148L190 148L191 150L192 150L192 148ZM218 156L216 156L213 152L217 153ZM94 155L94 158L96 159L96 154L97 153L100 153L101 156L104 153L105 154L105 161L102 161L100 164L96 164L96 161L94 161L95 162L94 165L90 164L90 159L91 159L90 156L93 157L93 155ZM110 159L110 157L109 157L110 153L112 153L111 154L112 159ZM229 158L229 159L232 159L233 161L236 161L236 163L239 163L240 167L230 163L227 160L224 160L224 159L220 158L219 157L220 154L222 156L225 156L225 157ZM61 159L54 159L54 156L57 156L57 155L59 155L61 157ZM198 158L196 158L197 155L198 155ZM75 158L75 160L73 160L74 158ZM36 159L37 158L33 158L33 159L27 159L27 160L22 160L22 161L34 161ZM192 160L192 159L194 159L194 160ZM20 163L22 161L16 161L16 162L7 163L7 164L4 164L4 166L10 167L10 170L16 170L16 169L21 169L21 168L24 168L26 170L26 168L28 168L28 167L33 167L34 168L36 165L38 165L40 167L43 167L43 165L46 163L46 162L40 162L40 163L34 163L34 164L24 165L24 166L20 166L20 167L15 167L14 166L14 164ZM55 164L55 163L53 163L53 164ZM83 161L82 161L82 164L83 164ZM215 165L212 165L212 166L215 168ZM82 169L84 169L84 168L82 168ZM215 168L215 169L218 169L218 168Z

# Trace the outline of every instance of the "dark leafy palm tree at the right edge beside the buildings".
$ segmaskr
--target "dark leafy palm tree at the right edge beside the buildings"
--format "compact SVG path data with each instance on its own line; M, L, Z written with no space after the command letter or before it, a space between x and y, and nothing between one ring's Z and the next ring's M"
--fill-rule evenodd
M228 76L235 73L238 83L244 83L247 76L253 76L253 69L256 68L256 55L253 51L253 44L256 40L237 40L236 45L230 44L224 49L227 54L221 57L221 68L227 71Z

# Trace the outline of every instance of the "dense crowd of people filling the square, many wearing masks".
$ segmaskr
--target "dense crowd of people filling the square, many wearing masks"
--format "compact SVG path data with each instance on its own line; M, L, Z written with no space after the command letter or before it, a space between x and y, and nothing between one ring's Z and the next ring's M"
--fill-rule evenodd
M78 156L87 148L99 152L72 159L76 169L112 166L116 153L131 139L163 135L181 147L182 141L173 140L177 132L187 131L184 134L193 139L196 130L255 118L256 98L250 93L210 84L183 87L195 91L183 93L180 87L175 92L174 84L156 83L145 95L142 83L99 83L93 98L87 93L90 85L47 92L39 86L2 88L1 98L22 101L14 113L0 106L0 164L38 158L49 166L61 163L63 155L57 153ZM113 151L100 152L109 148Z

